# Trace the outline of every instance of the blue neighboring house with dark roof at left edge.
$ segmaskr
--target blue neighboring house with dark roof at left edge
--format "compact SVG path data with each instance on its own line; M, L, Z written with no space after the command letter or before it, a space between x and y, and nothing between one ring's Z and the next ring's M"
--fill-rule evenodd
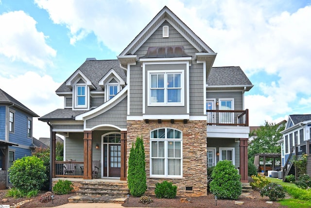
M7 187L13 161L31 155L35 147L33 117L39 115L0 89L0 189Z

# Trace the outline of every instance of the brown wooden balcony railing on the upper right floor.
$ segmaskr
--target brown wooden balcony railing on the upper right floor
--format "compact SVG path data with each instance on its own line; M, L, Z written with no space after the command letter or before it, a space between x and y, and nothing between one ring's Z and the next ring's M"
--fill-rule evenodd
M245 111L207 110L207 125L248 126L248 109Z

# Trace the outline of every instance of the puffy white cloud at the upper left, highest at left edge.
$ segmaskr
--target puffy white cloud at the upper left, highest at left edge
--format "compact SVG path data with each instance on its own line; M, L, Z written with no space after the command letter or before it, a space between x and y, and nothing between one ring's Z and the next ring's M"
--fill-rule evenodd
M37 31L35 24L35 19L23 11L0 15L0 55L38 68L52 65L56 51L46 44L48 37Z

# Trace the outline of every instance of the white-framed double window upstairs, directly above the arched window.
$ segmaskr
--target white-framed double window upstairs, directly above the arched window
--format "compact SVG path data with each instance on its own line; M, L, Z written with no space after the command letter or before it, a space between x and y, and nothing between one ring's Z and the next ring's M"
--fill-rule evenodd
M183 105L183 72L150 72L149 105Z

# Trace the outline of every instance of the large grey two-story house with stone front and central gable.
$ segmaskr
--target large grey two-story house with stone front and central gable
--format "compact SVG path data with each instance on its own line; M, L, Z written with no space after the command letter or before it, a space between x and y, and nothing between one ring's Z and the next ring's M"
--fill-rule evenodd
M64 109L39 118L51 127L51 152L55 134L65 136L66 161L52 153L52 178L91 179L100 161L99 178L126 181L139 136L150 192L168 180L178 195L206 195L207 167L220 160L247 182L244 93L253 85L240 67L212 67L216 55L165 6L116 60L87 58L56 90Z

